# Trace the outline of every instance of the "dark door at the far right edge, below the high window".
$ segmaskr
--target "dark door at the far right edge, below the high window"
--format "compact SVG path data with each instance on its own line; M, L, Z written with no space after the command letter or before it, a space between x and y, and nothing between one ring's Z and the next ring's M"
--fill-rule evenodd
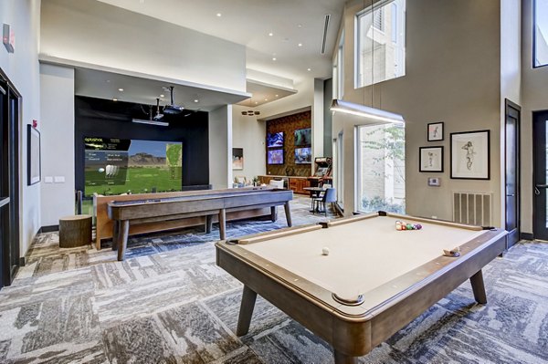
M548 222L546 218L546 183L548 166L546 164L548 148L548 110L532 114L532 157L533 157L533 211L532 233L535 239L548 240Z

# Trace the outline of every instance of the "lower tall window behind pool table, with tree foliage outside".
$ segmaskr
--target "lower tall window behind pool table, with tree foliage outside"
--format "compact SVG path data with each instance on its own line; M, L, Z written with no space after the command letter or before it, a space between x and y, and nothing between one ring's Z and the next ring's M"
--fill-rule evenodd
M358 210L405 213L405 127L386 124L357 128Z

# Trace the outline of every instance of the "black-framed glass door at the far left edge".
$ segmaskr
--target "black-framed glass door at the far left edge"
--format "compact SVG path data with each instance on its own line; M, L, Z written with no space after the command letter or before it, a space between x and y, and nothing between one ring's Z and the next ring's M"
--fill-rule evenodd
M0 287L19 265L19 100L0 69Z

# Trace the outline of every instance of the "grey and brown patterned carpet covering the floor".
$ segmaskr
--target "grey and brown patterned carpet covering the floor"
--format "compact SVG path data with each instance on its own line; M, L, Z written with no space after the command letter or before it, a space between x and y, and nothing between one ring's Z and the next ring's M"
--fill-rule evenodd
M308 209L308 199L293 203L294 224L324 219ZM227 234L284 226L281 211L275 224L232 223ZM38 235L0 291L0 362L332 363L329 345L260 298L237 338L242 286L216 266L218 231L184 233L132 238L124 262ZM467 282L360 362L548 362L548 244L517 244L483 273L488 305Z

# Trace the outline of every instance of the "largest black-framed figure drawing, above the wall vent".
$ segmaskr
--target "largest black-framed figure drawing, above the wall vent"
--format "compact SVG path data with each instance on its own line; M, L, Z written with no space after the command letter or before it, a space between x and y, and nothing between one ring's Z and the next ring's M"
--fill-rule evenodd
M490 130L451 133L451 178L490 179Z

